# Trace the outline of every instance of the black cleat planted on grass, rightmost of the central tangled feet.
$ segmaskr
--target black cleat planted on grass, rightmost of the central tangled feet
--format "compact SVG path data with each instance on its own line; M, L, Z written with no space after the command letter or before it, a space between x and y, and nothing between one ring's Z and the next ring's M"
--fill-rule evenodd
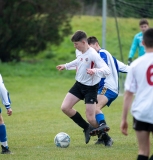
M95 144L104 144L106 147L113 145L113 139L105 132L102 133Z

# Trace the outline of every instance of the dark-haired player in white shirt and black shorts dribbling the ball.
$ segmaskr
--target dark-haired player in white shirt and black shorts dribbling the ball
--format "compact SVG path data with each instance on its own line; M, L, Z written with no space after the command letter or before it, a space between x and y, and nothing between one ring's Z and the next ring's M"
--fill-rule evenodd
M76 82L66 94L61 110L84 129L87 144L90 140L89 132L91 130L89 123L93 127L98 127L95 119L98 84L102 77L109 76L110 69L97 52L88 45L87 35L84 31L76 31L71 41L74 47L81 52L81 55L69 63L56 67L58 70L76 68ZM73 109L73 106L80 100L85 101L86 118L89 123L82 118L79 112ZM109 130L109 127L105 125L101 130Z

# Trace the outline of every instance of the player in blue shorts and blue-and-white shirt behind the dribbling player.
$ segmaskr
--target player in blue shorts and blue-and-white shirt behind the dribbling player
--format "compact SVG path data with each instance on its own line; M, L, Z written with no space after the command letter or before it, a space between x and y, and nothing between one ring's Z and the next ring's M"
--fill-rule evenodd
M118 97L119 94L119 72L127 73L129 66L117 60L107 50L101 49L96 37L89 37L88 44L94 48L100 57L106 62L110 68L111 74L108 77L102 78L98 88L98 104L96 106L96 120L99 126L106 125L105 116L101 109L105 106L110 106L111 103ZM99 128L93 129L90 134L97 135ZM98 140L96 144L104 144L105 146L112 146L113 140L106 132L98 133Z

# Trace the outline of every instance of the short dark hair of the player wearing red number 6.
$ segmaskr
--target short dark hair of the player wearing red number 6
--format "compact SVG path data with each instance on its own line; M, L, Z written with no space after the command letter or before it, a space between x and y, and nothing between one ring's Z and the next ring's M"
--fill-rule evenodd
M153 48L153 28L149 28L144 32L143 41L147 48Z

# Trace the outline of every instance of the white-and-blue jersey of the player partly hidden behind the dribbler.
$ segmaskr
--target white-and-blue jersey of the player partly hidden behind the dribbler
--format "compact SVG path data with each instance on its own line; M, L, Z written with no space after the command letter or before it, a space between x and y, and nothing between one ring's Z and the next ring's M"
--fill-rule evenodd
M99 86L110 89L118 94L119 92L119 75L118 72L127 73L129 66L117 60L107 50L100 49L98 51L101 58L106 62L110 68L111 74L105 79L102 79Z

